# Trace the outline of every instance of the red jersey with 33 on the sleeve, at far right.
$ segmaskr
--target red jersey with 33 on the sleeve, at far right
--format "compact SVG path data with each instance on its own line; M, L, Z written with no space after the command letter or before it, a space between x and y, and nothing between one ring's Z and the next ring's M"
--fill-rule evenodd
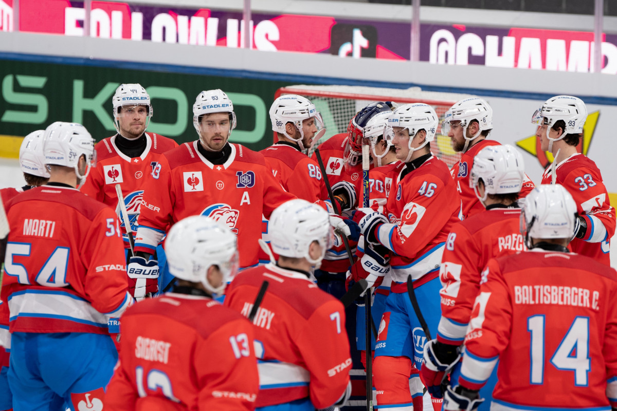
M574 253L610 266L610 241L615 234L615 208L611 206L602 174L590 160L576 153L555 168L557 184L563 185L576 202L576 211L587 222L584 238L574 238L569 248ZM542 184L552 182L551 168L542 174Z

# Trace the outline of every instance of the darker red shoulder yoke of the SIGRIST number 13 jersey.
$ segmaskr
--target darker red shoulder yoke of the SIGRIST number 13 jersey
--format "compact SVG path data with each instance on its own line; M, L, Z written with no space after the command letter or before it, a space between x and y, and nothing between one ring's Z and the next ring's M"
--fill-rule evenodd
M133 315L165 317L193 328L204 339L234 320L244 320L249 325L247 319L239 312L224 307L218 301L210 298L173 295L173 293L144 299L138 304L133 304L122 317L128 319Z

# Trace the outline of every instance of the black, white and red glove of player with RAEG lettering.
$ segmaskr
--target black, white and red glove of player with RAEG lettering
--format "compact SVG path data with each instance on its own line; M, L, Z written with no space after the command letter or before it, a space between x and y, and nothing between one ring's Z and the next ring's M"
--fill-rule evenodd
M442 381L460 357L458 346L440 343L437 340L428 341L424 345L424 362L420 368L420 379L433 398L444 397Z

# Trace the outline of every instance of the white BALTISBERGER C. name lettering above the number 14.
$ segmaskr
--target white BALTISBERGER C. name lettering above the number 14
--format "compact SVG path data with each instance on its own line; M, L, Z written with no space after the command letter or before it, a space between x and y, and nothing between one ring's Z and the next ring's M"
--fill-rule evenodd
M598 291L587 288L557 285L515 285L515 304L552 304L558 306L574 306L600 309ZM589 297L592 300L589 301Z

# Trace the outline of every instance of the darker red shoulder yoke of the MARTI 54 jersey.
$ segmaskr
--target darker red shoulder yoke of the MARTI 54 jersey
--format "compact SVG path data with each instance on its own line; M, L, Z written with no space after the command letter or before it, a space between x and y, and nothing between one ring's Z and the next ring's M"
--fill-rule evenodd
M54 197L50 197L48 194L56 195L54 195ZM31 200L54 201L56 203L64 204L70 208L74 208L79 213L86 216L89 220L93 220L94 216L96 216L96 214L98 214L102 209L109 208L106 204L103 204L92 197L88 197L78 190L58 189L53 185L41 185L41 187L35 187L21 193L20 195L16 195L10 201L10 205ZM109 210L114 213L111 208L109 208Z

